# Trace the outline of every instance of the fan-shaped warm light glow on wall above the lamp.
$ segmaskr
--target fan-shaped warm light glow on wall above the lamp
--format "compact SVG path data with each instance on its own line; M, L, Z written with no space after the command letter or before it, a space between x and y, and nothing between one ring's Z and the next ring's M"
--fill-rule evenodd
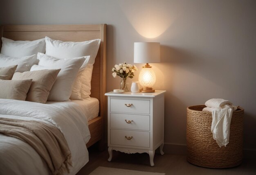
M170 9L157 0L117 1L135 30L143 37L155 38L173 22ZM136 5L135 5L136 4Z

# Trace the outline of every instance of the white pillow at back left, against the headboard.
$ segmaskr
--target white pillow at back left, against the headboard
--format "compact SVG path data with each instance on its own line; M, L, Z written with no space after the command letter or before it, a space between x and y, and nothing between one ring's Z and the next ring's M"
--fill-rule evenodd
M25 57L37 54L38 52L45 53L45 39L34 41L13 41L2 37L1 53L11 57Z

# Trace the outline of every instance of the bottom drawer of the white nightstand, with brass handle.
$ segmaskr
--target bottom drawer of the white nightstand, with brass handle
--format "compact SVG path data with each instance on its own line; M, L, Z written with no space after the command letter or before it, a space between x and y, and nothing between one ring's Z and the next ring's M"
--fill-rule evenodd
M110 129L110 144L150 147L150 132Z

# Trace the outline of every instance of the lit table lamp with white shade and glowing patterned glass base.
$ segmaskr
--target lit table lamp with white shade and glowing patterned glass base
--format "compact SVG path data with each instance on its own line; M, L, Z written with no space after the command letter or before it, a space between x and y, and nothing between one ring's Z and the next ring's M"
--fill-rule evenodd
M155 84L155 72L148 63L160 62L160 43L135 42L134 63L146 63L139 73L139 84L142 86L140 92L155 92L152 89Z

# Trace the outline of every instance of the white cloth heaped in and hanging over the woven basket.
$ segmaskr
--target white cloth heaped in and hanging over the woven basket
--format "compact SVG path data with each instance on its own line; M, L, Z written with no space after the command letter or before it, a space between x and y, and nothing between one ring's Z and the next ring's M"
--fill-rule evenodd
M205 102L203 111L209 111L212 114L211 132L213 139L216 140L219 147L229 143L229 129L233 114L233 107L230 101L212 98Z

